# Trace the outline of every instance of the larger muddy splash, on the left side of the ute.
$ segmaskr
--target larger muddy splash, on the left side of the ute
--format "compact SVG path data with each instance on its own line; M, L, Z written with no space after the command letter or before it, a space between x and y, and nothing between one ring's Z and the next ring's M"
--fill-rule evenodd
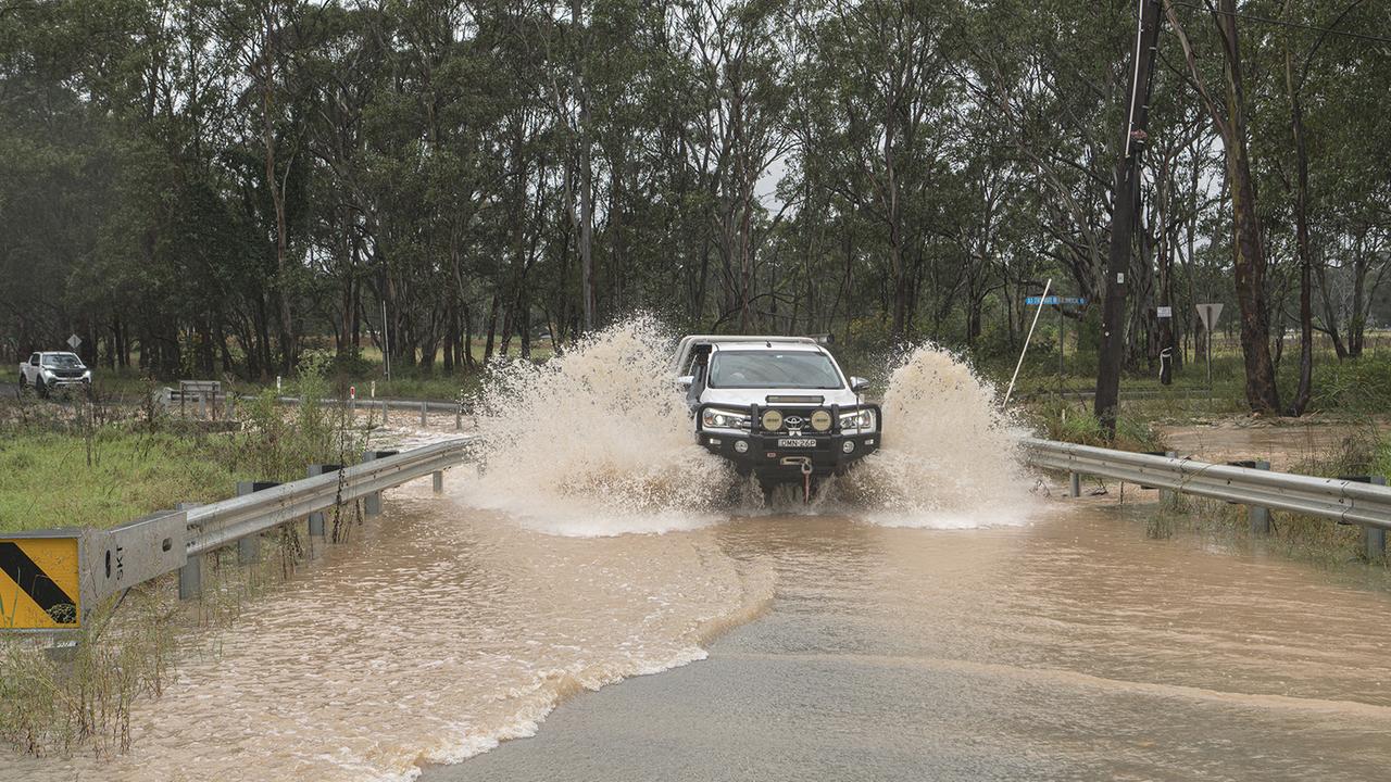
M495 367L480 399L487 466L467 501L577 536L719 520L733 473L694 444L669 356L662 327L637 317L544 365Z

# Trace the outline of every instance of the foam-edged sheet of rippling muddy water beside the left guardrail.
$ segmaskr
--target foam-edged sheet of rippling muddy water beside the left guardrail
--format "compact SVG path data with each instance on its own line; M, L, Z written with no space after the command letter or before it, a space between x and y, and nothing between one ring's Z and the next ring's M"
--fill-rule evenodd
M128 754L6 758L0 779L406 779L530 735L579 690L704 657L771 596L766 568L709 536L547 536L427 480L387 505L204 633L136 703Z

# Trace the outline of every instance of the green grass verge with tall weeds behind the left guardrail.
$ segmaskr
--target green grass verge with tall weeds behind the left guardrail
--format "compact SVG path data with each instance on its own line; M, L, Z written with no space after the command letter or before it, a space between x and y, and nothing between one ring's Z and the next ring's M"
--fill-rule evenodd
M307 366L287 392L327 395L321 369ZM113 526L178 502L231 497L238 480L296 480L310 463L353 463L367 442L342 409L285 408L273 390L243 402L241 415L241 431L210 434L195 422L167 420L154 406L7 402L0 409L0 530Z

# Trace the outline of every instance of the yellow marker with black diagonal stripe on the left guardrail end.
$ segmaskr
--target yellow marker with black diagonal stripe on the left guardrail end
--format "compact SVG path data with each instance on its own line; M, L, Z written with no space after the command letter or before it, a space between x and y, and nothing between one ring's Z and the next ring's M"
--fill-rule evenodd
M0 629L75 629L77 537L0 537Z

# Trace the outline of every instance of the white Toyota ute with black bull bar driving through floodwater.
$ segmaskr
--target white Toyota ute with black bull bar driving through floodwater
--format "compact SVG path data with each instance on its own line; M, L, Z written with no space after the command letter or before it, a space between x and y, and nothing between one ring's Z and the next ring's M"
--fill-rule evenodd
M696 440L768 490L846 472L882 445L868 381L810 337L684 337L672 360Z

